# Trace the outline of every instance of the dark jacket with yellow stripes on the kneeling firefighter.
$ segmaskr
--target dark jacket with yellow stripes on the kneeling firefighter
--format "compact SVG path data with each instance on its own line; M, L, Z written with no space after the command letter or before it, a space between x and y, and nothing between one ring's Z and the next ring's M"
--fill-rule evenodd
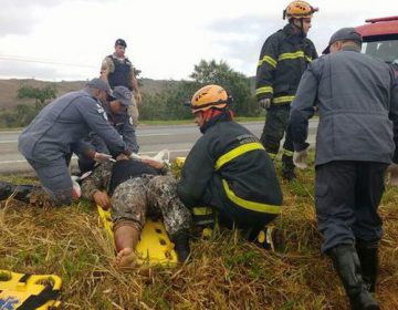
M235 205L279 214L282 192L270 157L251 132L227 115L218 115L201 127L203 136L184 164L178 196L189 208L208 205L211 179L219 175L220 193Z

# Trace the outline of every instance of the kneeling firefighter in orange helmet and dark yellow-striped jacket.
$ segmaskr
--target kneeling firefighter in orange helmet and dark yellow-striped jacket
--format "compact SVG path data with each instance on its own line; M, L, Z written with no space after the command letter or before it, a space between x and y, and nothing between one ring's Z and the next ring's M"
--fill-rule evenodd
M220 224L243 228L250 240L280 250L282 231L265 227L281 210L275 169L258 137L233 122L231 101L219 85L192 96L190 107L203 135L187 156L177 193L189 209L210 206Z

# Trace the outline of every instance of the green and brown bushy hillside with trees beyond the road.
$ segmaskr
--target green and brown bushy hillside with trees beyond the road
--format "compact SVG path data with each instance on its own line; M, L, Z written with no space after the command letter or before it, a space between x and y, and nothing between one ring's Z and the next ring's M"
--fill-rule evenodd
M136 74L139 73L140 71L137 70ZM223 61L200 61L195 65L189 79L187 81L140 79L143 94L143 104L139 106L140 123L175 122L175 120L190 122L192 117L186 103L189 103L193 93L206 84L220 84L232 94L234 99L232 108L241 117L256 117L264 113L255 103L253 79L232 70ZM0 107L0 128L27 126L53 99L64 94L65 91L77 91L85 84L75 82L73 86L64 85L63 92L60 92L59 83L48 82L38 86L35 82L21 82L13 96L12 107Z

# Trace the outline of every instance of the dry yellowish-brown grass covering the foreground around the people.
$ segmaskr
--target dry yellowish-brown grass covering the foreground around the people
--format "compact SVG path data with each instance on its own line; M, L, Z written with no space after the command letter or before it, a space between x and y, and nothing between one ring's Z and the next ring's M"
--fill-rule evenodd
M332 265L320 255L313 178L300 172L300 182L283 184L277 225L286 231L285 255L222 230L192 244L189 265L122 273L88 204L44 210L8 200L0 205L0 269L59 275L63 309L346 309ZM377 293L383 309L398 309L397 200L398 190L387 188Z

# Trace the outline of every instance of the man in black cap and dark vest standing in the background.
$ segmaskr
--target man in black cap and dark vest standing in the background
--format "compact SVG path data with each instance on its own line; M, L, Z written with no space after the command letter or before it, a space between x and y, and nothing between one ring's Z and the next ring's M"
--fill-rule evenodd
M125 56L127 44L123 39L115 42L115 52L107 55L101 66L101 79L107 81L111 89L125 86L133 92L132 105L128 107L128 114L133 117L133 125L138 124L138 107L142 102L142 95L138 89L138 81L134 74L133 63Z

